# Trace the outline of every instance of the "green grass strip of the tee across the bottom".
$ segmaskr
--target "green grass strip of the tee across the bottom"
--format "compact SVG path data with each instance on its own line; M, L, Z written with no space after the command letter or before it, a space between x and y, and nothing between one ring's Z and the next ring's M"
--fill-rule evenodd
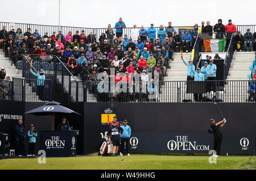
M123 158L123 161L121 159ZM132 169L132 170L172 170L172 169L256 169L255 156L232 155L217 158L217 163L208 162L209 155L154 155L133 154L131 157L67 157L47 158L45 164L33 159L2 159L0 169Z

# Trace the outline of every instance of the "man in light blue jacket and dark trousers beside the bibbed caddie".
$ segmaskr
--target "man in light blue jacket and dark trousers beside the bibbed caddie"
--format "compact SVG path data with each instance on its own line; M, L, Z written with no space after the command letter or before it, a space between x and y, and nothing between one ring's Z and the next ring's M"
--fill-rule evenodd
M126 145L126 153L127 156L130 156L129 153L129 145L130 145L130 137L131 137L131 128L129 127L129 125L127 125L127 120L123 120L123 133L121 134L121 152L120 152L120 156L122 157L123 155L123 149L125 148Z

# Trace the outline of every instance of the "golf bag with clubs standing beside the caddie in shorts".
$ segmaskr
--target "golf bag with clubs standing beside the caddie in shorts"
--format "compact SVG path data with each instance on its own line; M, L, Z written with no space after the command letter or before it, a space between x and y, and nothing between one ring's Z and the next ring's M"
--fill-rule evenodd
M113 153L113 145L110 144L110 137L108 137L107 133L105 132L105 136L101 133L101 146L98 155L108 156Z

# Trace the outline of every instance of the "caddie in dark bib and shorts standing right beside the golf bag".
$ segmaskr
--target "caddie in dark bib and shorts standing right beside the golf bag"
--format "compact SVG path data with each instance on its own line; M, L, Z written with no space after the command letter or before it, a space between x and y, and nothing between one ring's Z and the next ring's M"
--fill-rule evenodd
M113 144L113 154L112 157L117 156L118 148L120 144L120 135L123 133L123 128L117 125L117 121L113 120L113 125L109 127L108 136L111 134L111 141Z

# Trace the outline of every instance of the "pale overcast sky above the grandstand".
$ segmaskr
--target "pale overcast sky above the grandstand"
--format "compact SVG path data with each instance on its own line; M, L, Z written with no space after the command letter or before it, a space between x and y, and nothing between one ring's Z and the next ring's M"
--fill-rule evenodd
M193 26L201 24L201 20L214 25L219 18L223 24L232 19L233 24L256 24L255 0L224 1L224 0L60 0L61 26L105 28L108 24L123 18L126 27L144 25L155 26ZM59 24L59 0L20 1L12 0L10 8L0 11L1 22ZM246 16L246 17L244 17Z

